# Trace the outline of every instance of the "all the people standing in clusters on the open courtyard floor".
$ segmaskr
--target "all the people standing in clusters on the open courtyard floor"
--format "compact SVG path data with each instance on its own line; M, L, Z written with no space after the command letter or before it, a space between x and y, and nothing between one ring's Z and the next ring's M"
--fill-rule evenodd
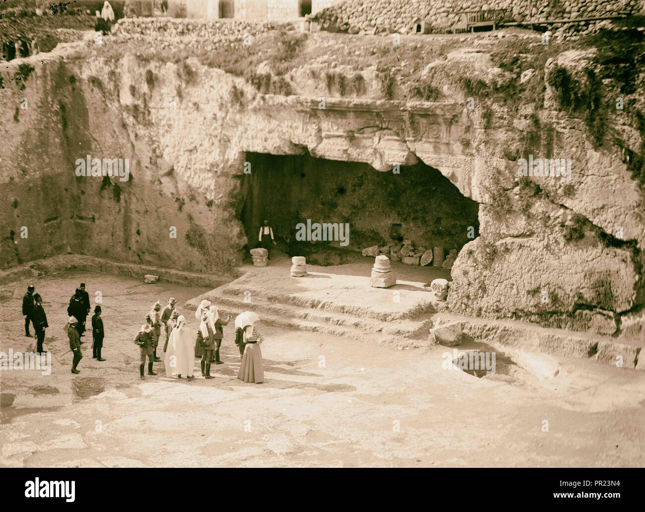
M32 323L35 329L37 340L37 352L43 351L43 340L45 329L48 327L47 317L43 309L43 300L38 293L34 293L35 287L28 286L27 293L23 297L23 315L25 316L25 335L31 337L29 324ZM195 319L199 320L197 335L192 337L190 328L186 325L186 318L179 314L175 308L177 300L170 297L168 304L161 308L161 302L157 300L146 315L146 323L135 336L134 342L139 346L139 377L145 379L144 370L146 360L148 363L148 375L157 375L154 371L154 363L161 362L157 356L157 347L162 333L165 333L163 346L164 366L168 377L182 375L186 379L194 379L195 358L201 359L201 374L204 379L213 379L210 375L212 364L224 364L220 359L220 347L224 338L224 326L227 326L231 316L226 319L219 316L219 311L210 300L202 300L195 311ZM81 337L86 331L86 319L90 314L90 297L85 291L85 284L81 283L75 290L67 308L69 318L64 326L67 334L70 351L74 353L72 359L72 373L80 373L77 368L83 353L81 352ZM263 336L259 331L261 320L250 311L241 313L235 319L235 344L240 353L240 369L238 378L244 382L263 382L264 367L262 352L259 344L263 342ZM92 352L94 359L104 361L101 355L103 348L104 330L103 319L101 318L101 306L97 304L92 317Z

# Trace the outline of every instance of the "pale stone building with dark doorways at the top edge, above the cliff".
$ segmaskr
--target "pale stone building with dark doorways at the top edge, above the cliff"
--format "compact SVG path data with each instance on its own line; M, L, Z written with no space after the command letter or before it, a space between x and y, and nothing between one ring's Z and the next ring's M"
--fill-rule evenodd
M341 0L168 0L168 15L190 18L238 18L286 21L339 3Z

